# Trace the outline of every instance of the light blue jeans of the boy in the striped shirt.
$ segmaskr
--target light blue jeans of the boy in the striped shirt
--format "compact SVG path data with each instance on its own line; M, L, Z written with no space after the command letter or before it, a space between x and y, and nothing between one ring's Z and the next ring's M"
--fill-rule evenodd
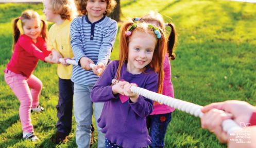
M74 83L74 115L76 119L76 143L78 148L89 148L91 140L92 101L91 90L93 86ZM94 103L94 117L98 120L104 103ZM101 133L96 122L98 132L98 148L105 147L105 134Z

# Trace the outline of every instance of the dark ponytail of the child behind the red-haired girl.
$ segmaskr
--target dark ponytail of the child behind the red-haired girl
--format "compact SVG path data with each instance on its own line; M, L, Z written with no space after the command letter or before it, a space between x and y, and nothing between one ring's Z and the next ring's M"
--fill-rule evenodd
M174 53L174 45L176 40L175 26L172 23L168 23L167 25L171 28L168 41L167 41L167 52L170 59L174 60L176 57Z

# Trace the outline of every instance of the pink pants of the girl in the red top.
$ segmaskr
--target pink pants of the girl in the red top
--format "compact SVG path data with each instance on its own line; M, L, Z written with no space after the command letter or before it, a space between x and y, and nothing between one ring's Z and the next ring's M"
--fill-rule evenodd
M36 108L39 104L38 100L43 84L41 80L34 75L26 78L22 74L16 74L8 69L5 69L4 72L6 83L21 102L19 114L22 124L22 131L33 132L30 111L31 107Z

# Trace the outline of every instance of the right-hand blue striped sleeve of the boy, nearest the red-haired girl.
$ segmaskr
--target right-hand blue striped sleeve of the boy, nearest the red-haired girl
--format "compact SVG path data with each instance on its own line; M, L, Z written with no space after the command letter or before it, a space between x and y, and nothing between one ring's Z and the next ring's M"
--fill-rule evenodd
M110 24L100 46L97 64L99 62L103 62L105 66L107 66L108 60L110 59L111 51L115 43L116 33L117 23L115 22L115 20L112 20L112 23Z

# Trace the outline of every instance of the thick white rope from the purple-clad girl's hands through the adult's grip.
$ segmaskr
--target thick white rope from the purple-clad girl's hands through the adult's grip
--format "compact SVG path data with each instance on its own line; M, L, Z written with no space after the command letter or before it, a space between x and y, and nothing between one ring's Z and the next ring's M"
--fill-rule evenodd
M113 79L112 83L114 83L115 81L118 81L118 80ZM189 113L196 117L202 117L203 115L203 113L201 112L202 106L200 105L175 99L175 98L158 94L155 92L151 92L146 89L135 87L135 86L131 86L131 91L143 97L165 104L169 107L181 110L182 112ZM241 130L241 127L231 119L224 120L222 123L222 127L223 127L223 130L228 134Z

